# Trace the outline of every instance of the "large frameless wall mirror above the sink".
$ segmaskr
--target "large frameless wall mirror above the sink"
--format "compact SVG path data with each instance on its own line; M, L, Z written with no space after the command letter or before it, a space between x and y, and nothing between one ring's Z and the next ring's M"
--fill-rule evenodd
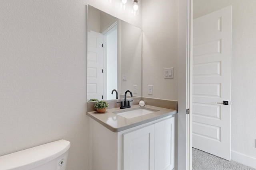
M126 90L141 97L142 30L89 5L87 17L88 101L120 99Z

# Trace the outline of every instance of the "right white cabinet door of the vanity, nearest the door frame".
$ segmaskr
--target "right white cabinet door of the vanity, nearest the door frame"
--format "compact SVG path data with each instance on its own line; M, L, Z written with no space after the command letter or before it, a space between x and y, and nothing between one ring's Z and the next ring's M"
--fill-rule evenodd
M155 123L155 170L174 168L174 117Z

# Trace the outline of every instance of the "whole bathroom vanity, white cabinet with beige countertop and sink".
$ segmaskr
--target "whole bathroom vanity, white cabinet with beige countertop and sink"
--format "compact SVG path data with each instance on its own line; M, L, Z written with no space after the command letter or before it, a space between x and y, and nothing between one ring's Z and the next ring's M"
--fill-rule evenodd
M176 110L139 105L88 112L91 170L172 170Z

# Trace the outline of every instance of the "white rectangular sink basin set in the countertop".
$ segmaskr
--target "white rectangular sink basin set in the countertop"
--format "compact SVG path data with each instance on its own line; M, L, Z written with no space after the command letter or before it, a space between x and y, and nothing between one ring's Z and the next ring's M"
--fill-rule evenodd
M121 111L114 111L113 113L116 113L117 115L130 119L133 117L138 117L138 116L146 115L149 113L154 113L155 111L159 111L159 110L150 109L147 107L136 107L132 109L124 109Z

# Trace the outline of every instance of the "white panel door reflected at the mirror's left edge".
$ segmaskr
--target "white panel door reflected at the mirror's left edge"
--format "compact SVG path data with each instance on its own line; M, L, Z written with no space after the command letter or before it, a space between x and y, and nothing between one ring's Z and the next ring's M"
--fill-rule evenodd
M88 32L87 49L87 99L102 99L103 96L103 35Z

